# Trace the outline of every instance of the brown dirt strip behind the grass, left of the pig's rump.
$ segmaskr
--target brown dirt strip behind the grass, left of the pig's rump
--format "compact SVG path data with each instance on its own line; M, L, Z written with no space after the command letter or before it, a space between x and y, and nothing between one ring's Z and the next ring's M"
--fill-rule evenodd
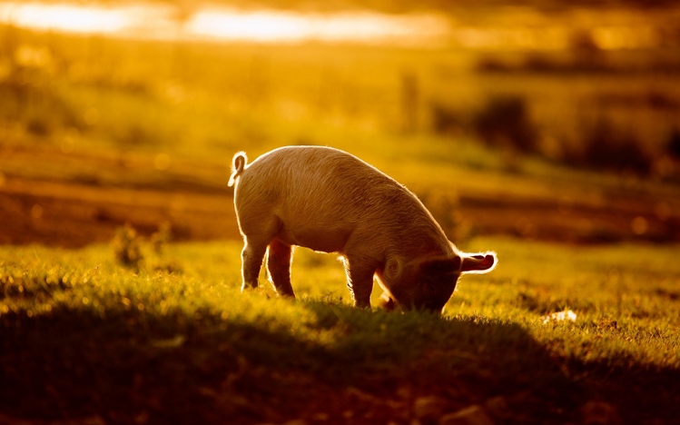
M108 242L130 223L150 234L172 224L179 241L240 237L232 196L7 179L0 186L0 243L79 247Z

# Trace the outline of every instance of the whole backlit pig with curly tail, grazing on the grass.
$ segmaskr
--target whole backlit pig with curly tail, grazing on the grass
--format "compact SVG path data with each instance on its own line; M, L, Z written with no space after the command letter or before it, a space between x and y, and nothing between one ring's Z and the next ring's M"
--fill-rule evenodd
M350 153L286 146L232 160L229 185L243 236L241 290L257 288L265 254L276 292L294 298L292 247L337 252L354 305L440 313L462 273L491 271L494 252L465 253L409 190Z

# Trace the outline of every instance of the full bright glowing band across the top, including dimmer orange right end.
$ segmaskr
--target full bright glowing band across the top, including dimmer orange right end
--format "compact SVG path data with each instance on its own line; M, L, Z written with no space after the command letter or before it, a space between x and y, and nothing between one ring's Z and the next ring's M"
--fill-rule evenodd
M465 49L565 50L574 28L547 25L456 25L435 13L389 15L374 11L332 14L241 10L205 6L182 11L174 5L78 5L3 3L0 24L41 31L100 34L157 40L248 43L357 43L454 46ZM458 23L462 24L462 23ZM593 25L589 32L603 50L649 48L660 35L650 25Z

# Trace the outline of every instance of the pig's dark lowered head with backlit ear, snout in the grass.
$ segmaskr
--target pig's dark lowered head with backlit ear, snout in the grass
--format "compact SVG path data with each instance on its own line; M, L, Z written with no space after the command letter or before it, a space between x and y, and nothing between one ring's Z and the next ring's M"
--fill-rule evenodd
M464 253L451 258L429 258L403 268L393 264L384 273L382 307L388 310L424 310L440 313L463 273L486 273L496 267L493 252ZM389 270L390 265L392 270Z

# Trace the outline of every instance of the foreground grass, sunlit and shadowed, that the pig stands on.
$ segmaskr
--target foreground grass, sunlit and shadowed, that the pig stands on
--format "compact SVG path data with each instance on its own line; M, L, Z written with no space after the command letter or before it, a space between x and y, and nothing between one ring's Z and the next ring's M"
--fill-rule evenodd
M0 421L677 420L672 249L483 244L501 265L442 318L356 310L340 265L309 252L291 302L239 292L237 242L145 252L138 272L105 246L2 247ZM577 321L544 323L565 308Z

